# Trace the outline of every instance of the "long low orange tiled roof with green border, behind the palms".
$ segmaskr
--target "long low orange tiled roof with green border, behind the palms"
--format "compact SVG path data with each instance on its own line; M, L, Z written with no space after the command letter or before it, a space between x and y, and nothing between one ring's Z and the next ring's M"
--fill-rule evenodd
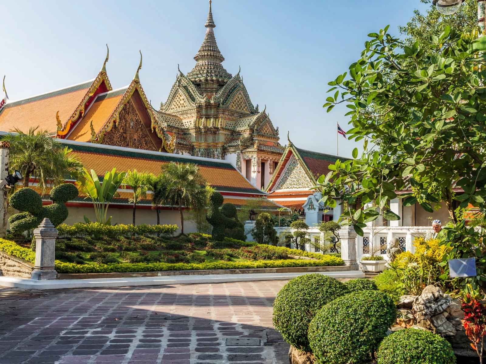
M79 143L60 140L73 149L87 169L94 169L98 176L116 167L119 171L137 169L139 172L160 173L160 167L169 162L194 163L208 183L217 191L243 192L265 195L253 187L238 170L228 162L178 154L161 153L140 149L104 146L94 143Z

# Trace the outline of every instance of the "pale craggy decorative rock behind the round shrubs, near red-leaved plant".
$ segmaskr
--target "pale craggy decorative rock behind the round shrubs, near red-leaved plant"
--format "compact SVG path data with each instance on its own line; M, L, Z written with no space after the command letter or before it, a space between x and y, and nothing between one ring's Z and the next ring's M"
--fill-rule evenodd
M412 308L417 321L422 321L443 313L451 302L451 296L442 293L440 288L429 285L414 299Z

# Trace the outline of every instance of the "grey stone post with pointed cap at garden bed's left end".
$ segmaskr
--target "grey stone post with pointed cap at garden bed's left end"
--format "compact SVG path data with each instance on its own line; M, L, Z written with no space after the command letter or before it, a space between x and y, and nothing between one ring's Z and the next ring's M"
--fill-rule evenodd
M34 229L35 236L35 266L31 278L36 281L54 280L57 272L54 269L55 244L57 229L47 217L39 227Z

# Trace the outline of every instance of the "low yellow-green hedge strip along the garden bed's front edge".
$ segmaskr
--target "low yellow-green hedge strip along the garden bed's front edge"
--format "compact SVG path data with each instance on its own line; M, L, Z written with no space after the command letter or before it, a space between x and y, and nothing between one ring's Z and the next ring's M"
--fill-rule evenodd
M330 264L331 263L331 264ZM158 272L164 270L203 270L203 269L254 269L254 268L286 268L303 266L330 266L333 262L327 260L266 260L258 262L218 262L218 263L115 263L115 264L85 264L63 263L56 261L58 273L121 273L121 272Z

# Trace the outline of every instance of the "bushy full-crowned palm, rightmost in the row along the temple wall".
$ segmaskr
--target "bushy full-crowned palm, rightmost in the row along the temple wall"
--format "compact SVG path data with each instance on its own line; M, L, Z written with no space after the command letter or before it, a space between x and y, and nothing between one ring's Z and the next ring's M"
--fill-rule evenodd
M183 207L203 209L206 205L206 180L193 163L167 163L162 165L162 183L166 191L162 194L165 205L176 206L181 217L181 234L184 234Z

